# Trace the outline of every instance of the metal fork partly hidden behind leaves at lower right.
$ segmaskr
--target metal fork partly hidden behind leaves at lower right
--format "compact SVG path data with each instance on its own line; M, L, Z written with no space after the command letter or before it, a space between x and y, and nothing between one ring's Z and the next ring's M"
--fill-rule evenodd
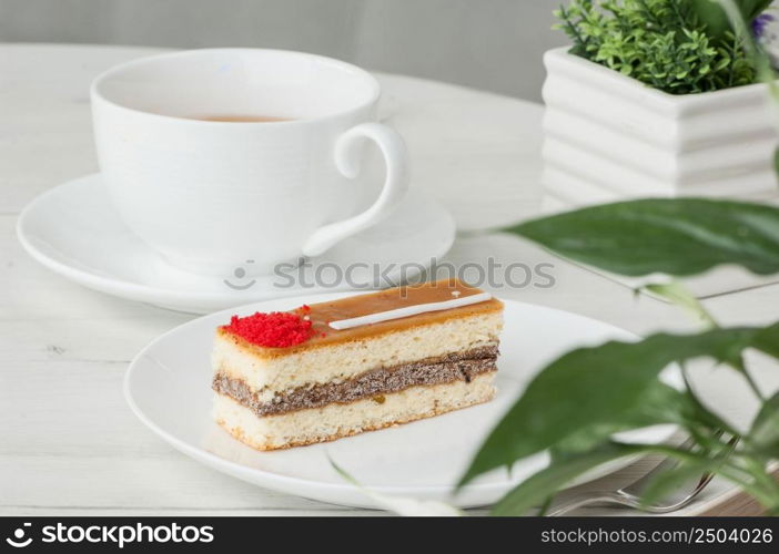
M688 439L681 444L679 444L679 448L682 450L691 450L695 443L695 440ZM731 452L734 448L736 448L737 443L738 437L734 437L732 439L730 439L730 441L728 441L728 453ZM552 510L549 510L546 513L546 515L565 515L568 512L576 510L577 507L583 507L589 504L619 504L623 506L634 507L654 514L665 514L669 512L675 512L676 510L680 510L688 505L690 502L692 502L692 500L695 500L695 497L698 494L700 494L700 492L704 489L706 489L706 485L708 485L711 479L714 478L714 473L702 473L700 478L695 482L695 486L692 488L692 490L680 500L676 500L666 504L641 504L640 494L641 491L644 491L644 489L646 488L647 483L658 473L672 469L678 464L679 462L677 460L672 458L665 458L646 475L634 481L627 486L624 486L616 491L590 491L576 494L565 500L564 502L557 504L556 506L553 506Z

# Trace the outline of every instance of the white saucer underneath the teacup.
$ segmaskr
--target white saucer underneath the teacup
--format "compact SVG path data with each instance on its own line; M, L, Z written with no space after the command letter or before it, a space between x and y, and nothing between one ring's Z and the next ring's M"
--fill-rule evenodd
M455 236L452 216L421 192L397 213L310 260L295 286L286 276L250 279L242 269L230 279L172 267L120 220L99 174L60 185L36 198L19 217L19 239L28 253L53 271L85 287L164 308L206 314L250 301L322 291L383 288L382 277L414 278L446 254ZM351 279L331 286L354 264ZM398 266L404 265L401 269ZM367 267L366 267L367 265ZM341 269L338 269L341 268ZM394 269L393 269L394 268ZM296 278L299 274L295 271ZM314 276L320 275L318 283ZM286 286L284 286L286 285ZM306 286L311 285L311 286Z

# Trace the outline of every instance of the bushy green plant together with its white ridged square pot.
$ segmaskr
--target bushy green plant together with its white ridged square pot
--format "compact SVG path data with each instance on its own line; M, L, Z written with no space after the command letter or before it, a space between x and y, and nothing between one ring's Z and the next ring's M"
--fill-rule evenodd
M750 30L721 7L759 23L769 3L571 0L557 10L573 47L544 59L548 193L564 205L772 197L768 85Z

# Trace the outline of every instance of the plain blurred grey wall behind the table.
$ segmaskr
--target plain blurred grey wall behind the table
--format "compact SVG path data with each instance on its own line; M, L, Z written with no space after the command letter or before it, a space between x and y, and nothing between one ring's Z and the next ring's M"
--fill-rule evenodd
M565 0L0 0L0 41L304 50L540 99Z

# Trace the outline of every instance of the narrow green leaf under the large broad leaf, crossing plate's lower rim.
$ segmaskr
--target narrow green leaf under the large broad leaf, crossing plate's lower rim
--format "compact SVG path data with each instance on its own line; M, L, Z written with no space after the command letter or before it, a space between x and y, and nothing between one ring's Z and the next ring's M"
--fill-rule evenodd
M575 458L553 461L515 486L493 507L493 515L524 515L543 503L566 483L611 460L634 455L637 449L625 444L606 444L598 450Z

